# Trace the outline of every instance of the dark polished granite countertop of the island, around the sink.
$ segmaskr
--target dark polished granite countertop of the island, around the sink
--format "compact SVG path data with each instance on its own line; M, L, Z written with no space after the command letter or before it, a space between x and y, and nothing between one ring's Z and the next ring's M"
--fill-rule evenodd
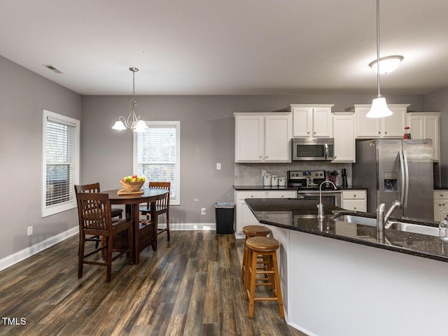
M383 243L377 237L376 227L332 219L334 216L332 211L351 214L353 211L324 205L325 219L319 224L316 202L313 200L258 198L246 199L245 202L260 223L448 262L448 242L442 241L439 237L386 229L386 241ZM374 214L368 213L356 215L374 217ZM435 222L408 222L437 227Z

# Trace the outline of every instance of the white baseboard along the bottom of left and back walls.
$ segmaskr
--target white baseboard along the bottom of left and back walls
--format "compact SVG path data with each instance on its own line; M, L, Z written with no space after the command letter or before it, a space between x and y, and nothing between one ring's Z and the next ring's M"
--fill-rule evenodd
M163 224L160 225L160 228L163 228L163 226L164 226ZM216 223L172 223L169 225L169 230L173 231L216 230ZM24 248L22 251L18 251L16 253L8 255L7 257L0 259L0 271L31 257L31 255L34 255L36 253L45 250L45 248L49 248L50 246L60 243L64 239L67 239L73 235L77 235L78 232L79 227L76 226L74 228L59 233L59 235L55 235L41 242L38 242L37 244Z

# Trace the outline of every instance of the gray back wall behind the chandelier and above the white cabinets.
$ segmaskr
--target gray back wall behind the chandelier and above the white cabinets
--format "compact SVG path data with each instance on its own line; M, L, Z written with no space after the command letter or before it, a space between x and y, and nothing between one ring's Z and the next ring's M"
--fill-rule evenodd
M233 201L234 112L279 111L290 104L335 104L332 111L344 111L353 104L370 104L372 95L136 97L137 113L145 120L181 120L181 205L172 207L172 223L214 222L214 203ZM423 96L387 99L389 104L409 103L413 109L423 109ZM104 190L118 189L120 178L132 173L132 132L111 129L118 116L127 117L129 100L129 96L83 97L82 183L99 181ZM221 171L216 170L216 162L221 162ZM206 216L201 216L201 208L207 208Z

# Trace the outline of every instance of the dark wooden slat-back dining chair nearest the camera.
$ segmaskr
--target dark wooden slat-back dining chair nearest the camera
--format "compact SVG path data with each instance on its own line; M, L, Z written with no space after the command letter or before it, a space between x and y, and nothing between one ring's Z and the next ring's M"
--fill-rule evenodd
M102 193L78 193L78 218L79 218L79 253L78 253L78 279L83 276L83 265L106 266L106 282L111 281L112 261L125 253L132 255L132 230L133 221L127 219L112 219L111 202L108 194ZM127 230L128 244L127 248L114 248L113 237ZM103 244L99 248L94 248L85 254L85 241L89 240L86 235L99 236ZM95 253L102 252L102 258L86 260L86 258ZM113 253L118 254L113 255ZM130 260L131 262L131 260Z

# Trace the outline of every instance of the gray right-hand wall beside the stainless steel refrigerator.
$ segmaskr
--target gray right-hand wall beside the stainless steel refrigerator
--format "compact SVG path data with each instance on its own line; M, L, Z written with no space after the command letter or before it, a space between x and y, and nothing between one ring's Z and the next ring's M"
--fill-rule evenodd
M423 106L423 111L440 112L440 182L448 187L448 87L425 94Z

